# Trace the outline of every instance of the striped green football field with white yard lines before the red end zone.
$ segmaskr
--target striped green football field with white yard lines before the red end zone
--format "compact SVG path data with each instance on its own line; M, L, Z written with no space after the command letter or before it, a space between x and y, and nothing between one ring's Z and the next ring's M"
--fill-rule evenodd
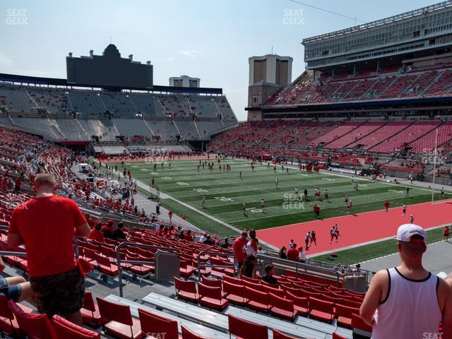
M202 162L205 160L201 160ZM354 183L359 184L355 191L350 177L321 172L320 174L299 171L299 169L286 169L273 165L255 164L254 172L251 163L245 160L222 160L221 164L230 164L230 171L219 170L215 159L213 169L201 166L198 170L199 160L172 160L171 167L165 160L163 166L157 162L154 172L153 162L126 162L124 166L130 170L133 177L146 185L152 178L160 192L168 194L179 201L189 204L208 215L212 215L227 222L238 229L261 230L271 227L290 225L299 222L317 220L314 217L314 203L320 206L319 218L333 218L347 215L349 210L345 207L345 195L353 201L354 212L363 213L371 210L381 210L383 203L388 199L391 208L430 201L431 191L412 186L409 197L405 197L406 186L402 184L389 184L387 182L372 181L362 177L355 177ZM114 165L114 164L113 164ZM119 172L123 171L117 163ZM242 179L239 172L242 171ZM278 187L275 185L278 179ZM302 202L295 196L295 187L299 189L299 196L308 190L309 201ZM319 187L321 200L314 197L314 189ZM324 191L328 189L328 201L323 199ZM204 207L201 199L206 195ZM446 196L447 197L447 196ZM265 208L260 207L261 199L265 201ZM435 194L439 199L439 194ZM165 207L165 199L163 199ZM242 204L246 203L247 215L242 213ZM170 206L175 213L177 208ZM208 221L207 221L208 222ZM202 227L202 225L200 225ZM209 232L212 232L209 228ZM222 232L218 232L222 234Z

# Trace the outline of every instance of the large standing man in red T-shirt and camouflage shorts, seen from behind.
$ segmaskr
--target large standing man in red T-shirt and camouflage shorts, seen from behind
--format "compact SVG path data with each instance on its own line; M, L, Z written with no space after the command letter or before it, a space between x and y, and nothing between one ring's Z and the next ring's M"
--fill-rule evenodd
M25 245L38 311L81 324L85 278L76 263L73 237L88 237L90 227L77 204L55 196L56 191L52 174L37 175L35 198L20 204L11 215L8 246Z

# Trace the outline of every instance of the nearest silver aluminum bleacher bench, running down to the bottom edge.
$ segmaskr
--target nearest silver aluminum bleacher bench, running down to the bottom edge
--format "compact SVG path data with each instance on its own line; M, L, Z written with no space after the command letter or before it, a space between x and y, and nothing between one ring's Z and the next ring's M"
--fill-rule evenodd
M173 316L172 314L158 311L157 309L153 309L152 307L147 307L143 304L138 304L138 302L132 302L131 300L117 297L116 295L108 295L107 297L105 297L105 300L108 300L109 302L117 302L119 304L129 305L131 314L135 318L138 318L138 309L144 309L145 311L150 311L154 314L163 316L167 319L175 320L177 321L179 333L182 333L181 325L184 325L186 328L189 328L189 330L193 331L194 333L198 335L203 335L207 338L218 338L218 339L230 338L229 334L227 333L215 331L212 328L201 326L198 323L193 323L189 320L178 318L177 316Z

